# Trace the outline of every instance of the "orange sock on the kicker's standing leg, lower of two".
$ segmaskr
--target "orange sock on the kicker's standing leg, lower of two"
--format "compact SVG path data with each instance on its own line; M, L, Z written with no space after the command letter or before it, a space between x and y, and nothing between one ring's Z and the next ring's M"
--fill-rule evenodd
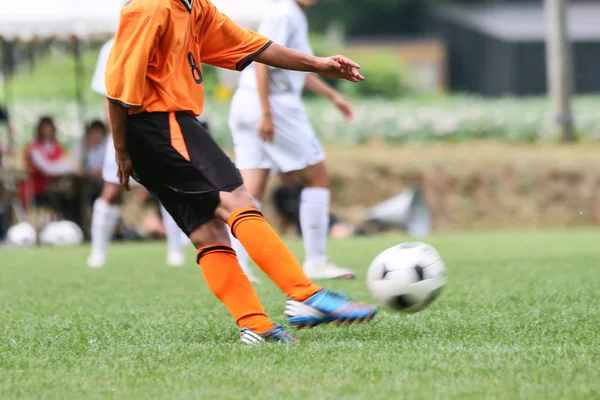
M225 304L240 328L265 333L275 326L231 247L211 245L198 249L198 264L208 287Z

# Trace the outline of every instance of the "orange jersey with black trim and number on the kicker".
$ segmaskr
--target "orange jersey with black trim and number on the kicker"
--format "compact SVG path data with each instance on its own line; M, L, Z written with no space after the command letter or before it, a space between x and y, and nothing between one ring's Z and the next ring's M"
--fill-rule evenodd
M243 70L271 44L209 0L133 0L121 11L106 68L108 100L130 114L202 113L201 63Z

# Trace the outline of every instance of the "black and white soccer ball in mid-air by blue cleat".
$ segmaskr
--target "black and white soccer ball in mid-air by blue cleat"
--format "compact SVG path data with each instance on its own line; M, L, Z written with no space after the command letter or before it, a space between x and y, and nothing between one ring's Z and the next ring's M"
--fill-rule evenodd
M367 284L380 304L414 313L440 294L446 284L446 266L430 245L401 243L375 257L369 266Z

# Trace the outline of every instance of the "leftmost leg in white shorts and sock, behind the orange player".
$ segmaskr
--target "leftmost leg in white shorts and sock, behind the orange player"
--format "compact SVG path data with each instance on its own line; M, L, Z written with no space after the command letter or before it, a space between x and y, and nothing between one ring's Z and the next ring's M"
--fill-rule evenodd
M109 137L102 167L104 186L92 207L92 251L87 263L90 268L100 268L106 263L106 252L121 217L122 190L117 179L117 163L112 137Z

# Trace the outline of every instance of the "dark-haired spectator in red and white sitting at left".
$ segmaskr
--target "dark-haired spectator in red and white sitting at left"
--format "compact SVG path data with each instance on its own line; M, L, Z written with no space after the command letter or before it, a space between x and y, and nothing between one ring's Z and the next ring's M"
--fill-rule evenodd
M49 191L56 179L77 173L76 165L65 157L66 153L56 138L56 126L51 117L40 118L35 139L24 152L27 178L21 183L20 197L23 205L52 205ZM77 222L79 209L66 197L59 199L63 217Z

